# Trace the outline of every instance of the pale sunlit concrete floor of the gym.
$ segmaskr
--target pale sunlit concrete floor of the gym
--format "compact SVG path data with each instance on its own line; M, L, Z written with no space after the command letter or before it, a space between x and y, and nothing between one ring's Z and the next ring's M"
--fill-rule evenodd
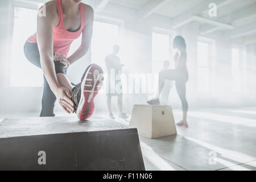
M174 110L176 122L181 116L180 110ZM129 119L116 121L129 123ZM176 136L140 137L146 170L256 171L256 108L191 110L188 124L187 129L177 127Z

